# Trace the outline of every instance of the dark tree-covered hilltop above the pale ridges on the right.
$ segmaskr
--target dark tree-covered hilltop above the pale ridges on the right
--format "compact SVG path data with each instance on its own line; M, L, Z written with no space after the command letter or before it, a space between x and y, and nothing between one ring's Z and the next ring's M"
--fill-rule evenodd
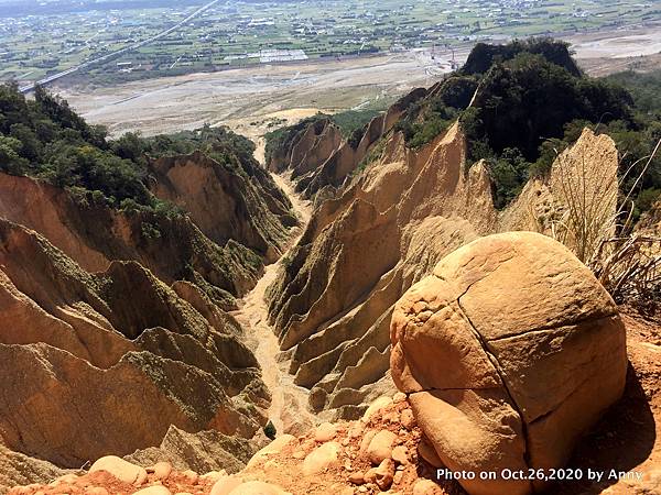
M568 46L553 40L480 43L462 69L409 107L395 130L403 132L410 147L419 147L458 117L468 162L487 162L496 206L503 208L531 176L545 174L556 154L588 125L616 141L622 189L636 183L631 197L637 216L661 189L660 157L636 182L661 138L659 79L635 73L587 77Z

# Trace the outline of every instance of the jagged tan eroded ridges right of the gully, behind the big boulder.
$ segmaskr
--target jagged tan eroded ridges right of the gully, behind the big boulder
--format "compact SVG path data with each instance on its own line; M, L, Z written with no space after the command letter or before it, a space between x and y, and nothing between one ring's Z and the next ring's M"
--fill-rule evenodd
M443 256L494 232L551 233L551 210L560 219L567 209L557 177L586 157L606 177L598 185L588 180L586 191L596 197L599 188L617 187L613 140L590 131L563 154L548 183L531 182L506 212L494 208L486 166L467 169L458 124L418 151L393 131L371 150L365 170L333 183L340 186L338 196L318 201L269 294L271 321L292 358L290 371L295 383L311 389L311 406L322 416L355 418L366 403L392 392L392 305ZM608 198L604 211L611 215L615 202ZM538 228L544 220L546 227Z

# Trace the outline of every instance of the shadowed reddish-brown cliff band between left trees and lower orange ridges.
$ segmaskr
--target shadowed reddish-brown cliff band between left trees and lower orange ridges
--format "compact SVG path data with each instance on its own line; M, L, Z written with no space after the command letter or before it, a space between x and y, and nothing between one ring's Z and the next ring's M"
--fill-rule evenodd
M113 210L30 177L0 174L0 217L36 230L86 271L132 260L167 284L196 283L228 306L261 273L256 253L213 242L189 218Z

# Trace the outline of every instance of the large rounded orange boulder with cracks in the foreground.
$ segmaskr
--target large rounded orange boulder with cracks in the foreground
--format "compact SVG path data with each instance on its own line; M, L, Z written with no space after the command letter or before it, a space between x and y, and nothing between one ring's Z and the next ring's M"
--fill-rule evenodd
M531 232L447 255L397 302L390 337L394 383L470 494L541 490L508 470L563 466L625 386L615 302L567 249Z

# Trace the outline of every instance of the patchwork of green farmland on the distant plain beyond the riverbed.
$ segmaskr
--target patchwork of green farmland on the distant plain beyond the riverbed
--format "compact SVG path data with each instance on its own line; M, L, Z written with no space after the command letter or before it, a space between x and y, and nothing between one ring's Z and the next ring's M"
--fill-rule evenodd
M195 10L174 6L0 19L0 79L43 78L149 38ZM250 56L260 50L335 57L659 21L661 0L225 2L85 76L104 84L215 70L260 63Z

